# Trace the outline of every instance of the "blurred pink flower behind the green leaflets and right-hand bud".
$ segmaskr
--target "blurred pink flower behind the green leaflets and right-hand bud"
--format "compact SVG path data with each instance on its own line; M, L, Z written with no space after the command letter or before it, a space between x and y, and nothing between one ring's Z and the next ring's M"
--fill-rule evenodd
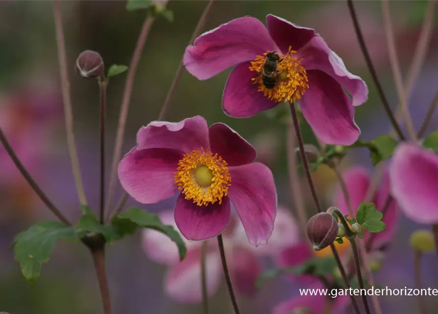
M344 171L342 174L345 184L347 185L348 193L350 195L351 206L356 210L361 202L365 201L366 194L370 185L370 178L363 167L354 166ZM389 195L389 173L385 170L380 187L374 193L371 202L376 205L377 210L382 210L385 207L386 199ZM342 213L348 214L347 204L345 202L344 194L340 187L337 187L335 206L339 208ZM389 242L395 234L398 221L398 208L394 199L389 201L389 205L385 211L382 221L386 224L386 229L376 235L372 248L378 249L382 245ZM364 240L368 240L370 233L364 231Z

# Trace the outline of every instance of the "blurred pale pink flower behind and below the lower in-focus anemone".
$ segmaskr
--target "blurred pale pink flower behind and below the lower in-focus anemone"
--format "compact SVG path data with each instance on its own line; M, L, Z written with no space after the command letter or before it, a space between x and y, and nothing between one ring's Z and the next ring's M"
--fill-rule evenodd
M164 224L176 225L171 210L163 211L159 216ZM223 233L227 262L236 291L251 296L256 292L255 282L262 270L258 256L276 254L283 247L292 245L298 239L298 227L285 209L278 208L269 244L255 247L248 243L242 224L233 217L235 216L232 215L232 223ZM145 230L142 245L144 252L151 260L168 265L169 269L164 279L166 293L181 303L199 303L202 300L202 242L185 242L187 256L182 262L179 261L175 243L159 232ZM222 278L223 270L217 244L211 240L207 241L206 286L208 296L217 292Z

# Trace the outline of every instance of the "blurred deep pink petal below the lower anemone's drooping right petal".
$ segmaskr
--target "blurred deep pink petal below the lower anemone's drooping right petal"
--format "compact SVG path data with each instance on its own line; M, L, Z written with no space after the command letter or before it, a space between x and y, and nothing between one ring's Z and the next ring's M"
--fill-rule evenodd
M261 275L261 265L253 252L243 247L233 248L230 268L238 292L246 295L257 292L256 280Z

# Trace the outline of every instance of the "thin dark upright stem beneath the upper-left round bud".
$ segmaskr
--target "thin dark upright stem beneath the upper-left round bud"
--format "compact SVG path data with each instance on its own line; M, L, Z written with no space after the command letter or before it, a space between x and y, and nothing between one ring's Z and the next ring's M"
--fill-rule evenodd
M105 111L106 111L106 79L105 76L99 77L100 89L100 141L101 141L101 210L100 219L103 224L104 219L104 197L105 197Z

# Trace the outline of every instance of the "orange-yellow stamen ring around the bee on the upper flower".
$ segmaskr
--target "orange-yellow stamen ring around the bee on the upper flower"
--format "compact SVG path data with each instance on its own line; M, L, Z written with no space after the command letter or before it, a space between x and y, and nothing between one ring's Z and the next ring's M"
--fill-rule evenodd
M262 92L270 100L281 103L283 100L287 102L295 102L301 99L304 92L309 88L309 79L306 69L301 65L303 59L298 60L292 57L296 51L291 50L285 55L280 55L281 62L278 63L278 83L274 88L268 89L263 85L261 71L266 61L265 52L263 55L258 55L256 60L251 61L249 67L251 71L257 72L257 76L252 78L253 84L258 84L258 91Z

